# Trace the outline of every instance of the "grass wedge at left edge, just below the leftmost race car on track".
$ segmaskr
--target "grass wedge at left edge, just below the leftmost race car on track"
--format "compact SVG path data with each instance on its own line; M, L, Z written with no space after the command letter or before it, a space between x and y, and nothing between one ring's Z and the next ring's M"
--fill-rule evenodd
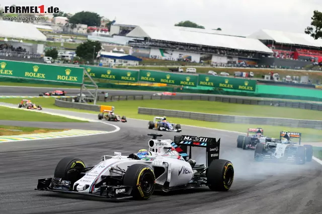
M45 98L44 98L45 99ZM16 99L16 102L12 102L17 104L21 101L20 98ZM19 100L19 101L18 101ZM0 101L3 101L2 99ZM37 102L36 102L37 103ZM39 103L39 102L38 102ZM41 104L41 103L39 103ZM43 107L43 106L42 106ZM37 122L77 122L77 123L84 123L86 121L79 121L75 119L64 118L60 116L42 114L31 111L23 111L19 109L11 109L7 107L0 106L0 120L10 120L10 121L37 121Z

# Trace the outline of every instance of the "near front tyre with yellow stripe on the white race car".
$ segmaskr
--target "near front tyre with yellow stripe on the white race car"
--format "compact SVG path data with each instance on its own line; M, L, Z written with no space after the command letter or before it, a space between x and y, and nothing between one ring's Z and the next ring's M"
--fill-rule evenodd
M133 164L123 176L123 185L132 186L133 199L148 199L155 188L153 170L144 164Z

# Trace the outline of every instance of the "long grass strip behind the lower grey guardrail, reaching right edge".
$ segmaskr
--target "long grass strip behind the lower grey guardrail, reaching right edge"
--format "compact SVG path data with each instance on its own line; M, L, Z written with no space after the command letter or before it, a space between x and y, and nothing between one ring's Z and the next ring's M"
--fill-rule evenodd
M98 102L97 104L106 104L106 102ZM171 109L219 115L321 120L322 123L322 112L319 111L267 105L191 100L129 100L115 101L113 102L113 106L115 106L118 112L126 112L127 114L136 114L137 108L140 106L145 108Z

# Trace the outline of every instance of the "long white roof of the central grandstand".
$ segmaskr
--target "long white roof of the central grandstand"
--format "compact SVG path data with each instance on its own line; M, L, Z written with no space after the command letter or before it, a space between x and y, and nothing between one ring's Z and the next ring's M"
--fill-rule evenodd
M271 49L257 39L183 31L176 28L138 26L128 33L127 36L148 37L152 40L273 53Z

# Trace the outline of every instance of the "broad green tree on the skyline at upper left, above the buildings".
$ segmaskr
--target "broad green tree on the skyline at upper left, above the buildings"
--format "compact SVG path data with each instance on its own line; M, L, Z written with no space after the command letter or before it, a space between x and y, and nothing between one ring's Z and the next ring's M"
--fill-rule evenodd
M87 26L101 26L101 17L97 13L82 11L69 18L71 24L83 24Z

